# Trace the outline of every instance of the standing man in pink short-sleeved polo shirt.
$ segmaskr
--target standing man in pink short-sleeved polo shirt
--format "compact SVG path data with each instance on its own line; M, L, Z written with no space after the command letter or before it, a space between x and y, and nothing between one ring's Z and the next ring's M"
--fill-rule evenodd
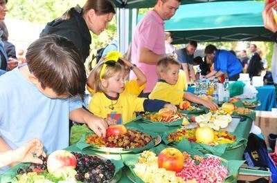
M157 63L166 55L164 20L175 15L181 0L157 0L153 10L139 21L132 41L132 62L147 77L141 97L148 97L157 83ZM131 73L130 79L135 75Z

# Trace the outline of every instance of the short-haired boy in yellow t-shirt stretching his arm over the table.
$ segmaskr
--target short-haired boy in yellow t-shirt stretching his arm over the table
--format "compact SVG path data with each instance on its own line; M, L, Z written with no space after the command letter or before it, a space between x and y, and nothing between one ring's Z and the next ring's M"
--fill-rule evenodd
M184 90L176 88L175 84L178 81L180 64L174 57L164 57L157 64L157 73L159 81L150 93L150 99L162 99L175 105L179 105L183 99L196 104L202 104L206 108L215 110L218 108L217 104L206 101L191 93L184 93Z

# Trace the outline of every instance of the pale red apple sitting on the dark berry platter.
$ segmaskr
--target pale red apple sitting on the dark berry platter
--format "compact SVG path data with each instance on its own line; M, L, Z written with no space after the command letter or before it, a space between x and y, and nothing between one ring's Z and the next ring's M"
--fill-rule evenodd
M57 150L48 156L47 169L55 177L61 177L70 169L75 169L76 157L69 151Z

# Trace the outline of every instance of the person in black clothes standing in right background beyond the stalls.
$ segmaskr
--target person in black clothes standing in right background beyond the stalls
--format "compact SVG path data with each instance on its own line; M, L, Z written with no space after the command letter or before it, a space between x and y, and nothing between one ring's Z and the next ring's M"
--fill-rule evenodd
M249 73L250 78L252 78L253 76L260 76L260 73L262 73L264 67L262 66L262 58L257 52L256 44L251 44L249 46L249 50L252 55L248 62L247 73Z

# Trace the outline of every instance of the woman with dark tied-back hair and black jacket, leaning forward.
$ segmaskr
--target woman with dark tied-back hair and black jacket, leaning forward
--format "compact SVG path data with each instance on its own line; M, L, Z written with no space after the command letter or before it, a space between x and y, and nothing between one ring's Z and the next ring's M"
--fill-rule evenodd
M87 0L82 8L75 6L67 10L62 17L47 23L40 37L60 35L75 44L85 61L89 56L91 34L100 35L116 13L114 3L110 0Z

